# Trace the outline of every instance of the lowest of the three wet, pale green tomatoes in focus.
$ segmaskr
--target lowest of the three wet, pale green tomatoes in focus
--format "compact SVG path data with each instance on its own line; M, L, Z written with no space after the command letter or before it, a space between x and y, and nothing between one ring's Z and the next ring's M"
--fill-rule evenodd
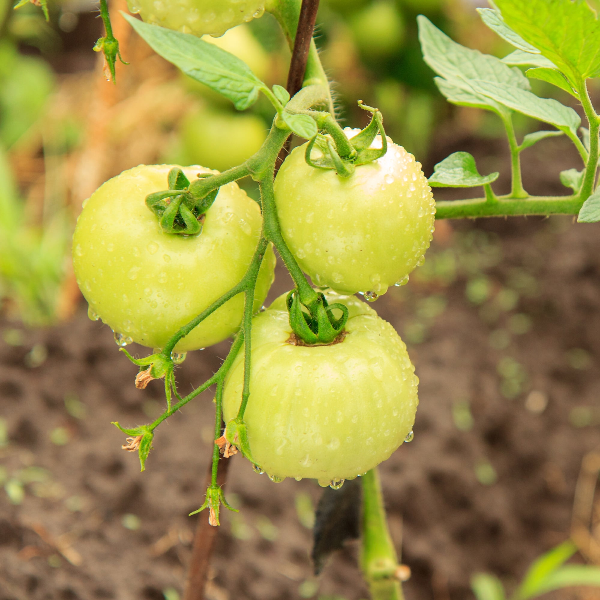
M353 296L326 297L349 310L338 343L290 343L285 295L253 320L244 421L252 458L274 481L353 479L386 460L415 421L418 378L394 328ZM243 385L240 352L225 382L225 422L238 413Z

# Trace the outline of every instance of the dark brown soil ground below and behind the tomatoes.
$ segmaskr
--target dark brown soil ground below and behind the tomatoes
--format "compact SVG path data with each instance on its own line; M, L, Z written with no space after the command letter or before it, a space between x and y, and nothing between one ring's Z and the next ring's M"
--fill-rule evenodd
M410 600L466 598L476 571L514 584L534 557L568 537L581 459L598 444L600 226L570 217L477 226L438 229L432 256L454 253L455 275L415 275L374 304L412 340L421 378L415 439L381 467L392 534L412 569ZM473 304L466 282L482 277L491 296ZM272 296L287 287L280 272ZM511 289L517 304L497 309ZM529 317L529 331L510 334L515 314ZM19 325L2 323L13 344L14 329ZM161 383L134 388L137 368L83 306L71 322L23 335L22 345L0 341L9 433L0 452L14 500L25 482L21 503L6 494L0 500L0 599L158 600L164 590L174 598L169 588L182 590L197 519L187 514L203 500L211 396L158 429L140 473L110 421L149 421L160 411ZM226 349L223 343L191 353L178 371L180 389L205 380ZM512 375L499 371L506 357L520 365ZM531 410L532 390L548 398L541 413ZM241 511L223 515L209 598L366 598L355 544L329 562L316 590L311 532L295 502L298 494L316 502L320 488L274 484L239 455L230 460L226 492Z

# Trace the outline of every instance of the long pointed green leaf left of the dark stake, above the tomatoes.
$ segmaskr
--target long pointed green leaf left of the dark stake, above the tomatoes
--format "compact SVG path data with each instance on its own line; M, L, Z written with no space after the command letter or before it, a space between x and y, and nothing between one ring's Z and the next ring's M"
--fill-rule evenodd
M244 61L215 44L121 14L155 52L192 79L229 98L236 109L252 106L260 89L266 88Z

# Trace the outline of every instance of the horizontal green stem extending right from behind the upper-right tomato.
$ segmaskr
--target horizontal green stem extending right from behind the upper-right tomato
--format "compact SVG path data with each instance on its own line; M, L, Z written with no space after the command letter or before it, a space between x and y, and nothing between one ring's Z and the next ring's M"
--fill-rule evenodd
M529 196L526 199L500 196L494 202L487 198L440 200L436 202L436 219L576 215L581 204L578 196Z

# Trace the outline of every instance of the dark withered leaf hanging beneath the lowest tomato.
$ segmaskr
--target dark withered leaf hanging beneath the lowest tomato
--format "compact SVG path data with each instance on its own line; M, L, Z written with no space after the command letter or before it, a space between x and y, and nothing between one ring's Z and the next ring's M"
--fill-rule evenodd
M319 575L329 554L341 550L344 542L360 535L361 484L358 479L346 481L338 490L325 488L314 520L311 558L314 574Z

